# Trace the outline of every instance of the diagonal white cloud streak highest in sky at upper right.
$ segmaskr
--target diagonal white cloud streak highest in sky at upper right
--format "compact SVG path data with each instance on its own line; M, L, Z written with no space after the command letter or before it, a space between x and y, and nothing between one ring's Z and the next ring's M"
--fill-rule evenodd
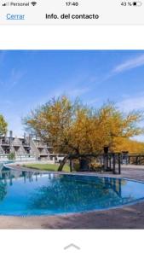
M131 58L127 61L124 61L123 63L119 64L118 66L114 67L112 69L112 73L122 73L124 71L133 69L135 67L141 67L144 66L144 55L139 55L135 58Z

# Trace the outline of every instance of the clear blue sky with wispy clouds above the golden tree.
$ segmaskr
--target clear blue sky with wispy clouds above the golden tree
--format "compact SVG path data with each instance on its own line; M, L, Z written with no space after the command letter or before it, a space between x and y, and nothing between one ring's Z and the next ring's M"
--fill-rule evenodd
M14 135L23 134L21 118L32 108L62 94L144 110L144 50L0 51L0 113Z

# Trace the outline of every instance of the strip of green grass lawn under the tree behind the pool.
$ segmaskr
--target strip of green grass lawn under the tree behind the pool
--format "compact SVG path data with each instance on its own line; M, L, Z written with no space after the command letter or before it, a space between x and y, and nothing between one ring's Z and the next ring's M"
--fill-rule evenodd
M59 165L53 164L26 164L24 167L33 168L41 171L57 171ZM64 172L70 172L70 167L65 165L63 167Z

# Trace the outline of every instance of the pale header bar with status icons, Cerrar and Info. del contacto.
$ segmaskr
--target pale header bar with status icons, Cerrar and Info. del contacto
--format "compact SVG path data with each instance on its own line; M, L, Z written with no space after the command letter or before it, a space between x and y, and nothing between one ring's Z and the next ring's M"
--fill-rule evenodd
M3 25L144 24L143 0L3 0L0 5Z

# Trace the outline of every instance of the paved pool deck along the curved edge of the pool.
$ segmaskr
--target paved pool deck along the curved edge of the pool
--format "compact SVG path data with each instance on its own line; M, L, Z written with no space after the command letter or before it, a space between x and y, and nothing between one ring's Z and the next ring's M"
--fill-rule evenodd
M16 168L20 167L16 166ZM87 175L117 177L109 173L87 173ZM118 177L144 182L144 166L123 166L122 174ZM40 217L1 216L0 229L144 229L144 201L99 212Z

